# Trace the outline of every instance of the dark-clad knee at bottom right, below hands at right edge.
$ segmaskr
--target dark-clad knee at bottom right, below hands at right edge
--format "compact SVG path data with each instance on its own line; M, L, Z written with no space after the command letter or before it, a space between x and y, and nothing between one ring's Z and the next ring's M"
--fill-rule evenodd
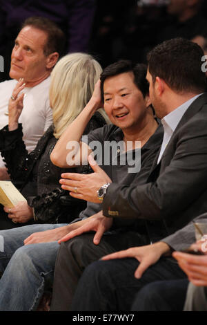
M184 308L188 279L156 281L144 286L132 304L133 311L181 311Z

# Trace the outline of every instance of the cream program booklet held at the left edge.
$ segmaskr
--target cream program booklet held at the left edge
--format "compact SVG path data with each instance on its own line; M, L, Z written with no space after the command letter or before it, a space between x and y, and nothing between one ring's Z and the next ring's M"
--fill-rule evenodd
M19 192L10 180L0 180L0 203L6 207L14 207L26 198Z

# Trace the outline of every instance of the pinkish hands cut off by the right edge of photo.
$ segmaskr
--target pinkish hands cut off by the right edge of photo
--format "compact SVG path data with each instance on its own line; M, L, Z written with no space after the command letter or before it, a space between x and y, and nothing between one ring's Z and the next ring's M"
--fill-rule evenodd
M186 272L190 282L195 286L207 286L207 240L197 241L190 248L200 250L204 252L204 255L174 252L172 256L177 259L180 268Z

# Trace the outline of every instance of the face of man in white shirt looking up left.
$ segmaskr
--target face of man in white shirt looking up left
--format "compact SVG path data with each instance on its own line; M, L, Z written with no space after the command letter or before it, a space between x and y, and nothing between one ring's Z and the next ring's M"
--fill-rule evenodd
M32 26L26 26L19 32L11 55L12 79L23 77L26 83L37 84L48 77L48 57L43 53L47 37L46 32Z

